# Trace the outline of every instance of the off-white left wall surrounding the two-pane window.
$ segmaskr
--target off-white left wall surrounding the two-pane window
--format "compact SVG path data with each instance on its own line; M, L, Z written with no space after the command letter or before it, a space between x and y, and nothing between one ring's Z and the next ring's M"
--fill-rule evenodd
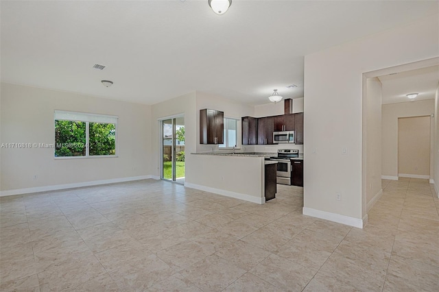
M150 106L5 83L1 84L0 104L1 143L53 144L54 110L119 117L117 158L60 160L54 158L52 148L2 148L2 193L150 174Z

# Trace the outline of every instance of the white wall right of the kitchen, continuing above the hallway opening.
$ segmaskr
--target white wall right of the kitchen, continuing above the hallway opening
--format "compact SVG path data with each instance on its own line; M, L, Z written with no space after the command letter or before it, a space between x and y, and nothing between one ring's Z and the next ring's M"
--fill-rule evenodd
M305 56L305 214L363 225L362 75L438 56L438 19L435 14Z

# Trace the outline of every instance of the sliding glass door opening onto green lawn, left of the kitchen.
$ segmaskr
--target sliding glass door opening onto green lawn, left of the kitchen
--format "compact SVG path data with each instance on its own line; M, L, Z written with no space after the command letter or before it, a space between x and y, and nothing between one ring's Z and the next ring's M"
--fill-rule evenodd
M185 184L185 117L161 121L161 179Z

